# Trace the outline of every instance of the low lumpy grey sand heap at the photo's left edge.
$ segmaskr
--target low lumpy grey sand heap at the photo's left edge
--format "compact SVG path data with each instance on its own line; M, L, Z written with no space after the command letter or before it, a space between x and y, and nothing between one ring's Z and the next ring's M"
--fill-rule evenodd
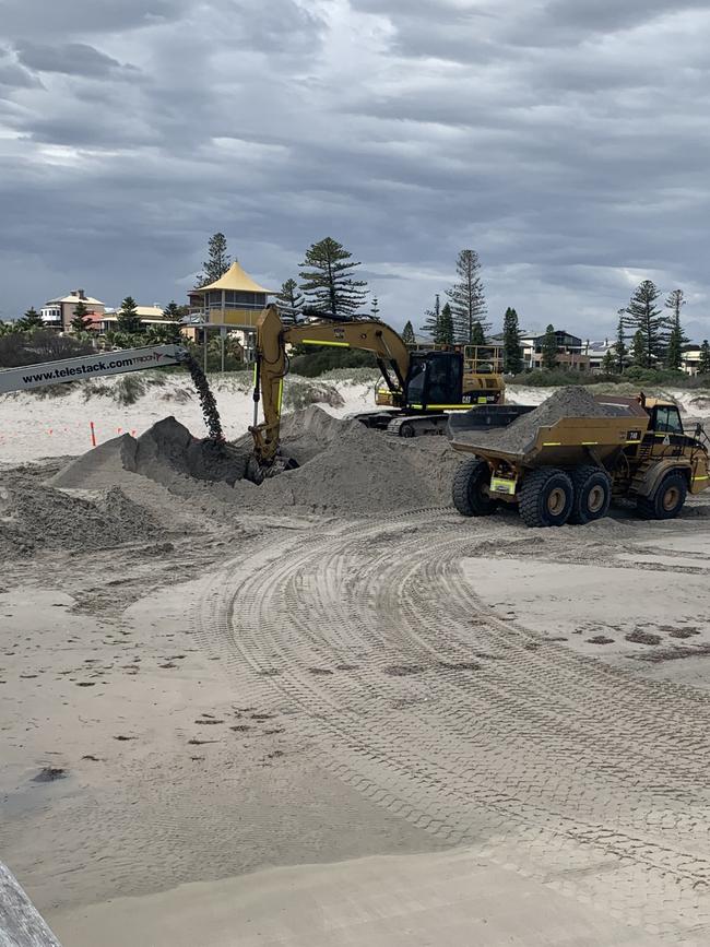
M118 487L95 498L70 496L31 480L0 487L0 553L28 556L39 549L88 551L154 538L158 524Z

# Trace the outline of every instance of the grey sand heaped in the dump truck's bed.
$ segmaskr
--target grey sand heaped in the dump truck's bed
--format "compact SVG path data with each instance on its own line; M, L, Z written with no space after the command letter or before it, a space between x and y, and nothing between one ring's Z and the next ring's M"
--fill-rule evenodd
M537 430L563 417L607 417L612 411L594 401L585 388L570 386L560 388L551 398L513 421L508 427L490 431L457 431L457 440L481 447L497 447L509 453L524 453L534 441Z

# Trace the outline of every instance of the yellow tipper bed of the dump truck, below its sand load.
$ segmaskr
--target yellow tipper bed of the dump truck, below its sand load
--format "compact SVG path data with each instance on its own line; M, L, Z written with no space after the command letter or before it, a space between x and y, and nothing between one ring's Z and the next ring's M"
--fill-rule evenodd
M615 417L564 417L539 427L528 440L500 442L497 433L469 431L465 439L452 440L455 450L486 460L507 460L519 466L576 466L593 454L604 461L620 449L639 443L649 426L646 412L629 411ZM523 435L524 437L524 435Z

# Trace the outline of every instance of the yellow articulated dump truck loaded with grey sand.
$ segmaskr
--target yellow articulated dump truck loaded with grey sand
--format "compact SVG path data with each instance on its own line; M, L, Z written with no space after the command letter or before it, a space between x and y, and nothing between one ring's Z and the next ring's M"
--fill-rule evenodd
M452 416L452 446L472 454L453 481L459 512L487 516L509 504L528 526L560 526L601 519L623 499L646 519L667 520L710 486L708 436L700 425L686 434L675 404L642 394L594 401L590 416L540 426L530 407Z

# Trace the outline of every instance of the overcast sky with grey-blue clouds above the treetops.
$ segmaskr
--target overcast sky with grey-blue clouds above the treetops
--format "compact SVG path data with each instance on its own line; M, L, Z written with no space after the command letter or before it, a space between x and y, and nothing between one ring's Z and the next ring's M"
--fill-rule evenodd
M710 335L708 0L0 0L0 318L270 287L343 242L415 328L481 254L494 325Z

